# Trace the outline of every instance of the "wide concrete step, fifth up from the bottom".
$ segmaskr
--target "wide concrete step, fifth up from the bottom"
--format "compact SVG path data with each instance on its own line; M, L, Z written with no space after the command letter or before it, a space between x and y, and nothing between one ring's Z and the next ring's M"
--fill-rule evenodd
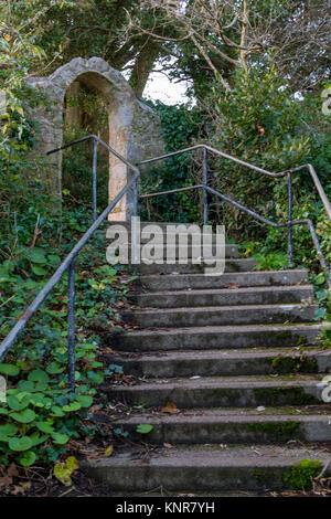
M122 351L210 350L298 347L318 341L320 325L250 325L134 330L111 333L108 345Z

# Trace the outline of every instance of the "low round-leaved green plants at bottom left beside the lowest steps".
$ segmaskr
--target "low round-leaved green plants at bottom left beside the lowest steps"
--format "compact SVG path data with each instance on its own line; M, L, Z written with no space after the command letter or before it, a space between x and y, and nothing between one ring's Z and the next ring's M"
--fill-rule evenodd
M93 366L96 363L94 350L90 345L79 345L77 358L84 354ZM0 425L0 459L6 465L13 459L23 466L38 459L55 460L70 438L82 434L81 420L87 416L96 393L90 374L99 377L97 383L103 380L100 363L95 367L97 371L84 367L76 372L76 380L85 383L79 383L73 395L66 386L63 353L57 348L54 356L57 361L47 364L45 370L30 370L29 363L22 361L15 366L0 364L2 373L18 380L15 384L9 383L7 401L0 407L0 420L4 422Z

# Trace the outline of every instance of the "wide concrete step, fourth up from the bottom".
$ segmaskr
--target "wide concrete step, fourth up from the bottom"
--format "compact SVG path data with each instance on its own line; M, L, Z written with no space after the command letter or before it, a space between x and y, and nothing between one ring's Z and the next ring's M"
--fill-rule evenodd
M331 370L331 352L318 350L243 349L170 351L163 354L106 357L125 373L138 378L227 377L247 374L324 373Z

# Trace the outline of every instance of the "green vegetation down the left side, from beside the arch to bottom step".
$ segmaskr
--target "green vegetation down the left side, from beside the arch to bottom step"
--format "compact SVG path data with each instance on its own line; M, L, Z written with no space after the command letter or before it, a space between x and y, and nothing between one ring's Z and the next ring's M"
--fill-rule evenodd
M39 127L29 114L46 106L46 99L23 83L43 56L33 39L11 25L0 39L0 84L7 97L0 146L1 340L92 222L87 193L77 204L64 189L70 203L61 206L52 194L47 163L35 151ZM87 160L79 173L90 182ZM105 199L99 202L105 204ZM95 236L77 262L75 395L67 381L66 275L0 363L8 396L0 403L0 464L54 463L71 441L92 438L99 431L88 407L105 377L120 371L99 360L100 330L105 324L116 330L116 304L124 300L129 280L126 272L106 264L104 236Z

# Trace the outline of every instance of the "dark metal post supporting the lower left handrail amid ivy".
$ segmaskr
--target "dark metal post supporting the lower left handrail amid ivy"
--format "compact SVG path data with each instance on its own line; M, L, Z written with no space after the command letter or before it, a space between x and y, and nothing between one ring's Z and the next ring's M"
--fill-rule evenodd
M67 364L68 388L75 393L75 261L73 260L67 269Z

